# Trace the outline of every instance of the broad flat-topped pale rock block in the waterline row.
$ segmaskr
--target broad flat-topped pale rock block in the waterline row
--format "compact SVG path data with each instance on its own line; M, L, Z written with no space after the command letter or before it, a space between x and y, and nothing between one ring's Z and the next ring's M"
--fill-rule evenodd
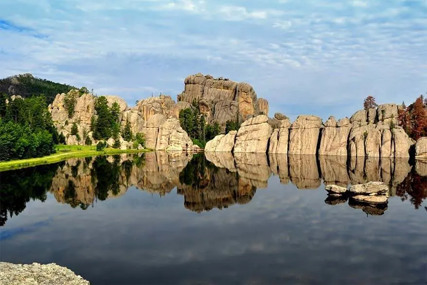
M289 154L317 153L322 120L317 116L298 116L289 131Z

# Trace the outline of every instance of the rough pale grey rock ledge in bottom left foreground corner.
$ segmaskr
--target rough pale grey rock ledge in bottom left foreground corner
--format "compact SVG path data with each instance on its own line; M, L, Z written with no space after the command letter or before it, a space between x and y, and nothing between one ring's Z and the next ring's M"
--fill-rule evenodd
M67 267L51 264L12 264L0 262L1 285L88 285L89 281Z

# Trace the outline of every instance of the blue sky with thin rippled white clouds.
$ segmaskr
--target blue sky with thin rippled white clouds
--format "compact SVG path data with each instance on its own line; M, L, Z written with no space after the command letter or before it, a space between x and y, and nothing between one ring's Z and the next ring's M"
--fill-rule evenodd
M1 0L0 63L129 105L201 72L325 121L426 94L427 0Z

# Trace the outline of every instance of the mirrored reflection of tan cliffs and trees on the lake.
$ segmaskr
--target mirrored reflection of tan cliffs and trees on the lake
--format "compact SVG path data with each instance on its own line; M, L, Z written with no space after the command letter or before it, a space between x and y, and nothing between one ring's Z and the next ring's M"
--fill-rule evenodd
M427 197L427 163L414 167L406 159L351 158L333 156L269 155L231 153L151 152L140 155L100 156L71 159L56 164L0 173L0 225L18 215L31 199L44 201L50 192L60 203L86 210L97 201L121 196L134 186L164 196L177 187L184 207L200 213L233 204L249 203L257 189L267 188L271 175L291 182L298 189L324 185L383 181L390 196L409 200L418 209ZM337 205L347 197L326 196L325 203ZM356 204L351 207L381 215L387 206ZM427 208L426 208L427 210Z

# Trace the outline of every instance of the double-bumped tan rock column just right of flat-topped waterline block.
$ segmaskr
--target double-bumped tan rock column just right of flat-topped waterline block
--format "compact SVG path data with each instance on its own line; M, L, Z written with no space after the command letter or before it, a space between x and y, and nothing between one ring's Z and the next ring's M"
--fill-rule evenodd
M352 125L347 118L338 122L331 116L321 130L319 155L347 156L347 140Z

